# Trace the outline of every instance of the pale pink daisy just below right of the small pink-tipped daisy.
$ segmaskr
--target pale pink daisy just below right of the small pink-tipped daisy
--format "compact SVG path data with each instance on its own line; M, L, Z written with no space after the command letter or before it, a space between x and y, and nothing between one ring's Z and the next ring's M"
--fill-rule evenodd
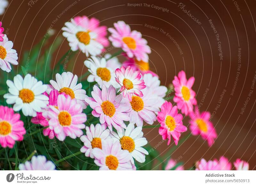
M127 112L130 117L130 123L136 123L138 127L142 127L143 120L152 125L156 121L155 112L159 111L156 103L158 97L152 94L152 91L148 88L143 89L142 92L143 97L132 96L132 101L130 101L131 109Z

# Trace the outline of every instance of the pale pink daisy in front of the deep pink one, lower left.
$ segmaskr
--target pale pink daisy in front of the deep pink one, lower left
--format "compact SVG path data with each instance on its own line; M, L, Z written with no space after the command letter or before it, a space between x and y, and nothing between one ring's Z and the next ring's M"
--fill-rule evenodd
M56 137L64 141L66 136L73 139L83 135L82 128L85 128L84 122L86 115L83 108L76 103L70 96L59 95L56 106L49 105L46 112L43 112L45 118L49 118L49 127L53 129Z

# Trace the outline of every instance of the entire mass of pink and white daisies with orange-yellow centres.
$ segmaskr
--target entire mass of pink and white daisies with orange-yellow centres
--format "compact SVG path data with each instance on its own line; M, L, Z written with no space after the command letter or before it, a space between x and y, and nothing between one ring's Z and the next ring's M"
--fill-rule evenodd
M12 49L13 43L2 34L1 26L0 22L0 67L10 72L10 64L18 64L18 55ZM167 87L160 85L158 75L149 69L151 50L140 32L132 31L124 21L107 28L100 26L98 19L86 16L74 17L62 30L70 50L80 50L88 57L84 60L88 72L80 79L71 72L56 73L55 79L44 80L46 84L40 81L42 78L37 80L38 76L24 72L24 77L17 74L9 78L4 98L10 108L0 106L3 148L13 148L18 144L16 141L25 141L34 134L39 136L43 131L46 137L41 136L43 140L38 141L44 145L57 138L56 143L62 146L80 149L68 158L83 153L83 157L92 159L100 170L136 170L138 163L144 163L149 155L146 149L150 145L143 128L159 127L159 135L163 140L168 139L167 145L172 141L178 145L188 128L189 133L200 135L209 146L213 145L217 133L210 113L198 109L192 89L195 78L187 80L185 72L180 71L172 81L175 95L171 102L166 96ZM109 45L107 31L112 45L120 48L120 54L126 57L123 63L111 54L100 55ZM83 80L84 77L87 80ZM190 117L189 124L183 121L185 116ZM156 121L159 125L148 126ZM31 132L33 127L39 131ZM55 159L56 164L66 160L61 158L66 154L61 154L59 149L55 152L54 156L44 155L52 161ZM25 159L18 167L20 170L55 170L55 164L45 156L31 155L31 161ZM234 166L237 170L249 169L248 163L240 159ZM174 168L184 170L182 165L169 159L165 169ZM224 157L209 162L201 159L196 163L196 170L231 170L231 163Z

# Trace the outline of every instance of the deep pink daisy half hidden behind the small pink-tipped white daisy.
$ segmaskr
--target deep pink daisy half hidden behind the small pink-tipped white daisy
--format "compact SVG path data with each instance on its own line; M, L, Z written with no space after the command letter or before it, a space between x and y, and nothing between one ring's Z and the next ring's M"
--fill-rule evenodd
M148 62L142 60L138 61L136 58L127 58L127 60L124 61L123 66L131 66L133 70L139 70L142 75L152 74L153 76L157 76L156 73L150 70Z

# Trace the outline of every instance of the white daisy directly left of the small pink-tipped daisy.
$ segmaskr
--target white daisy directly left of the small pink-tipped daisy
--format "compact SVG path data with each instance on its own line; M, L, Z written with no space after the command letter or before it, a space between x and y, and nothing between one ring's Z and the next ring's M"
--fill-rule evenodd
M115 72L113 71L113 69L107 67L107 62L105 58L99 59L95 56L92 56L92 58L84 61L84 65L91 73L88 76L87 81L96 81L99 84L100 88L102 88L102 85L105 85L107 88L110 85L113 85L113 87L115 87L116 89L121 88L121 86L115 80Z

